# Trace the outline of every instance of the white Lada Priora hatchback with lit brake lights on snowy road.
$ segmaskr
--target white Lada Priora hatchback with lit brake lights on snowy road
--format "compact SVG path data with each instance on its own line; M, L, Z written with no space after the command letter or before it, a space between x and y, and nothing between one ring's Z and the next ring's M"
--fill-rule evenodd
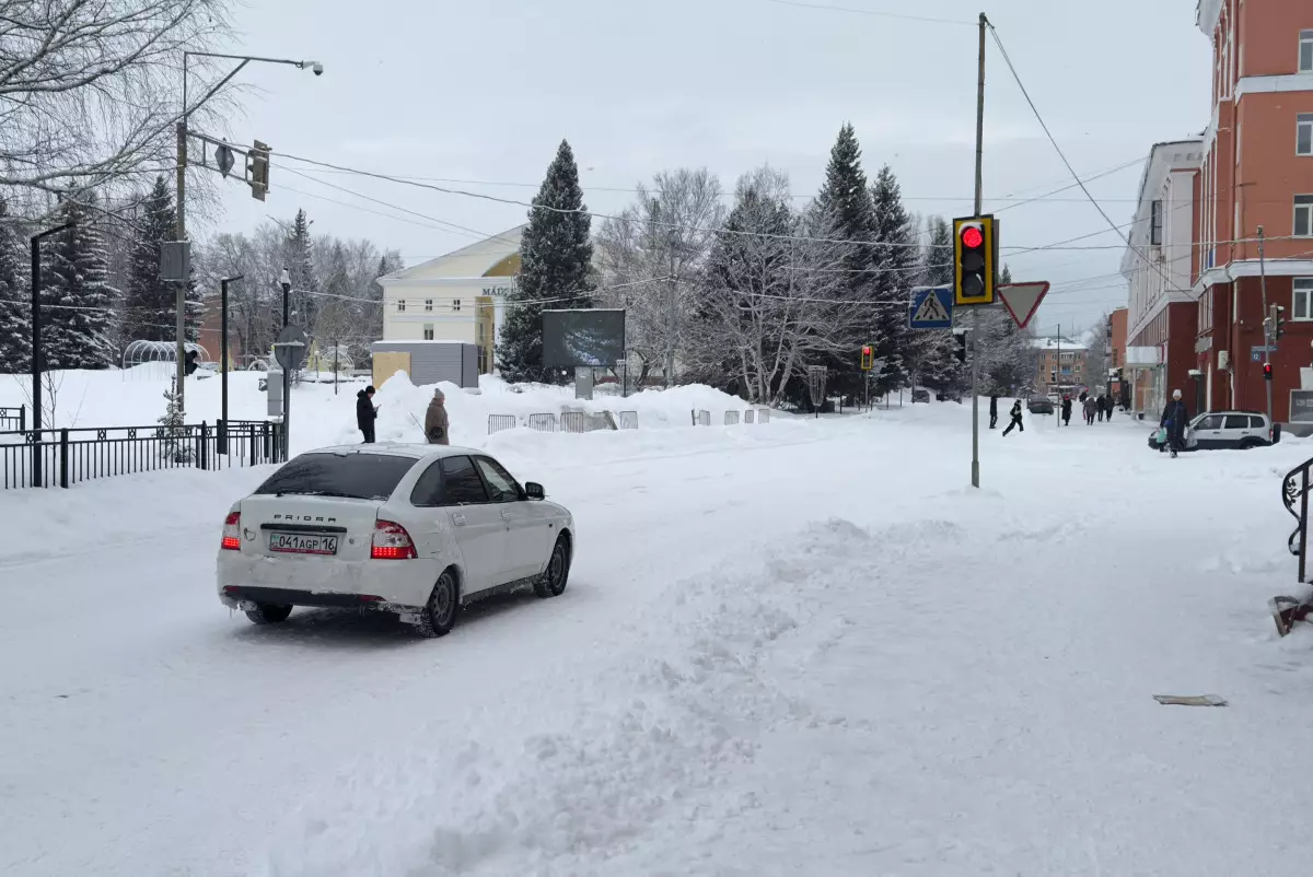
M469 448L349 445L288 462L223 523L219 600L256 624L293 607L393 612L441 637L462 607L565 591L574 519Z

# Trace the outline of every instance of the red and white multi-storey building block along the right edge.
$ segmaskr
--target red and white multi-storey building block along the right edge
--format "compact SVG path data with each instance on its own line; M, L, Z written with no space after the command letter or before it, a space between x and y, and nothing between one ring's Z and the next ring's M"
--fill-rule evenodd
M1313 3L1200 0L1197 25L1213 45L1211 121L1199 140L1186 142L1197 143L1188 150L1200 154L1196 167L1163 155L1179 144L1159 144L1150 156L1134 248L1123 261L1128 360L1142 361L1137 396L1144 387L1146 407L1179 387L1194 410L1266 408L1266 274L1268 305L1285 309L1285 335L1272 352L1272 415L1285 421L1300 368L1313 362ZM1179 192L1165 196L1163 169ZM1188 259L1175 234L1154 249L1186 215ZM1137 293L1145 299L1155 282L1162 305L1137 309ZM1154 347L1158 362L1150 362Z

